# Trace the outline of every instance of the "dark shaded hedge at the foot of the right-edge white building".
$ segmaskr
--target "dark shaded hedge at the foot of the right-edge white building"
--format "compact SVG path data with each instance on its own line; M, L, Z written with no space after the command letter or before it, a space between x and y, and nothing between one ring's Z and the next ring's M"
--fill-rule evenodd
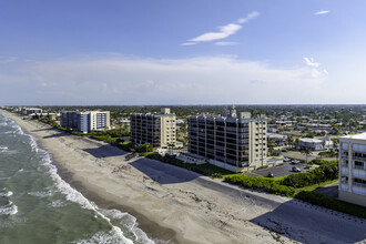
M342 202L316 192L299 192L295 199L318 205L334 211L347 213L354 216L366 218L366 209L350 203Z

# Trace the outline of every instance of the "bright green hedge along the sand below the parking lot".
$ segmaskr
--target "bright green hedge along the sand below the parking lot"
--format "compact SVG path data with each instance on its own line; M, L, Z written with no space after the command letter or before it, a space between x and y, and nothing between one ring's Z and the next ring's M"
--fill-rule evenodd
M224 181L247 189L260 190L277 195L293 196L295 194L294 187L281 185L276 181L265 179L263 176L247 176L243 174L236 174L225 176Z

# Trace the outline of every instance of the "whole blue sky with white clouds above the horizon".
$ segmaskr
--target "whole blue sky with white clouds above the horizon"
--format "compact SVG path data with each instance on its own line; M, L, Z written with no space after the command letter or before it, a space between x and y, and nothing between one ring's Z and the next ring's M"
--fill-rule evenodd
M365 104L366 1L1 0L0 104Z

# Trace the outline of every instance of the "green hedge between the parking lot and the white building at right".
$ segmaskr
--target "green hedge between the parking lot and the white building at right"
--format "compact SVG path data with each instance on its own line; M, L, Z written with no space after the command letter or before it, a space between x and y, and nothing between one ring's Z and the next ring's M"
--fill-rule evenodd
M281 184L292 187L304 187L319 184L325 181L336 180L338 177L338 165L334 163L323 164L311 171L297 174L291 174L281 180Z

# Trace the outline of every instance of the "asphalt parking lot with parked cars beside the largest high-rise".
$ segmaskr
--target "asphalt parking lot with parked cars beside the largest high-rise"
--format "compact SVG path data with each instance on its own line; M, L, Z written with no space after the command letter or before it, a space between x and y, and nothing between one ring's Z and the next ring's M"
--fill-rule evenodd
M272 166L263 170L255 170L251 173L246 173L245 175L250 176L267 176L267 174L271 172L273 173L274 177L285 176L288 174L294 174L297 172L293 172L293 166L298 167L302 172L309 171L309 169L305 169L307 165L305 163L297 163L297 164L291 164L291 162L285 162L284 165L281 166Z

